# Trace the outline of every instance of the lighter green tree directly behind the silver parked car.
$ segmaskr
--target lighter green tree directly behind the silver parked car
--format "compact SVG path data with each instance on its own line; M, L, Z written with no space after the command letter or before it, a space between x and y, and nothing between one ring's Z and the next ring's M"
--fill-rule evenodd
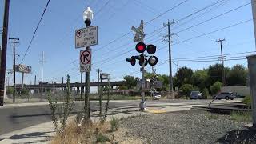
M192 75L192 83L194 86L198 86L199 90L210 86L210 83L207 81L208 79L209 77L206 70L196 70Z

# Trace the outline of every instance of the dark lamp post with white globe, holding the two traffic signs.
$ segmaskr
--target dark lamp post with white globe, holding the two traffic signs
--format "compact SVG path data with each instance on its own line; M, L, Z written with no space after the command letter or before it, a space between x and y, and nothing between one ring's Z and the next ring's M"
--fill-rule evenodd
M86 24L86 27L90 26L91 20L94 17L94 13L90 10L90 7L83 13L83 20ZM89 50L90 46L86 46L86 50ZM90 119L90 72L86 72L86 93L85 93L85 120L88 121Z

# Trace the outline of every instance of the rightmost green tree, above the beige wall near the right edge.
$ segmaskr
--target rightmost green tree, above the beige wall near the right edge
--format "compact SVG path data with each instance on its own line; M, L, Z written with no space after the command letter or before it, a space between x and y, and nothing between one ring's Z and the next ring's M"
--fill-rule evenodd
M242 65L235 65L226 76L227 86L246 86L248 71Z

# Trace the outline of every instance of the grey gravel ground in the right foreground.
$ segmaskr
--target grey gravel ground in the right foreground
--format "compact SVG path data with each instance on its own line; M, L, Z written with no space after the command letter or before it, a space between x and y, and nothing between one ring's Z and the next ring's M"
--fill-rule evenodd
M234 122L229 115L203 110L187 110L166 114L148 114L121 121L126 137L146 143L256 143L255 131L247 130L248 122Z

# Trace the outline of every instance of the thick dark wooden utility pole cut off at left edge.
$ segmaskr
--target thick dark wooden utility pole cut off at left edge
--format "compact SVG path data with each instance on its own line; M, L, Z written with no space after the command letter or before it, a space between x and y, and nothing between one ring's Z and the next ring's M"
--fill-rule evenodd
M10 0L5 2L5 11L3 18L2 29L2 51L1 51L1 67L0 67L0 106L3 106L3 98L5 95L6 84L6 50L7 50L7 38L8 38L8 21L9 21L9 6Z

